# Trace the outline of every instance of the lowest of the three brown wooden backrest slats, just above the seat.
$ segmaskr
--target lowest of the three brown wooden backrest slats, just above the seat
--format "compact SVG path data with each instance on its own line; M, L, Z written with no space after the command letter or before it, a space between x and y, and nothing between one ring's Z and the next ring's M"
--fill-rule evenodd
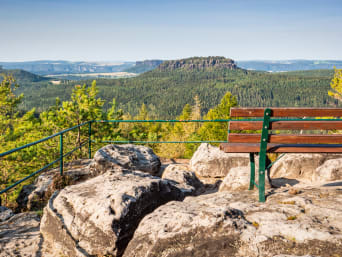
M260 134L230 133L228 135L228 142L230 143L260 143L260 139ZM282 144L342 144L342 135L270 134L268 142Z

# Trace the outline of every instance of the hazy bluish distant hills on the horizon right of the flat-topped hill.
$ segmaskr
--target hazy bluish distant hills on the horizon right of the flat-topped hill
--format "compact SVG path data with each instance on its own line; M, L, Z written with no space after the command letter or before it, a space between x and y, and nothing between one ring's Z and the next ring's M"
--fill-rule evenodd
M238 61L237 65L248 70L298 71L342 68L342 61L335 60L287 60L287 61Z

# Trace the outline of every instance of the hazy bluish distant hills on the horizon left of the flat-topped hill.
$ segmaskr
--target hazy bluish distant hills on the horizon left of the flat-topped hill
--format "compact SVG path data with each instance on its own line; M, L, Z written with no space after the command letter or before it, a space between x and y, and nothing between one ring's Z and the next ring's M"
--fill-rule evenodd
M134 65L134 62L69 62L69 61L32 61L0 62L5 69L22 69L38 75L68 73L109 73L121 72Z

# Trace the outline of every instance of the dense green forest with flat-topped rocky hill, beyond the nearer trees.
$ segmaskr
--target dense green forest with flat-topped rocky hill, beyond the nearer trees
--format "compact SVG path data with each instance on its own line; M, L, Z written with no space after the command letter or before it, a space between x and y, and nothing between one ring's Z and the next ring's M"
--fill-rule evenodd
M119 108L136 115L144 103L159 118L180 115L185 104L193 104L197 95L202 114L217 105L231 92L240 106L337 106L326 92L333 70L269 73L237 68L223 57L189 58L166 61L158 68L134 78L98 79L99 96L106 100L105 109L115 98ZM19 81L20 82L20 81ZM91 80L21 83L17 93L24 93L20 108L33 107L42 112L55 98L69 99L76 84Z

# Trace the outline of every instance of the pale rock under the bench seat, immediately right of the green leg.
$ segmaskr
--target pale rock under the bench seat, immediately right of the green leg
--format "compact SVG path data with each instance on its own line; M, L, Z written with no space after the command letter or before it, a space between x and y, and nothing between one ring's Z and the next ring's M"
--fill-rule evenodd
M322 169L326 169L327 166L323 166L318 171L322 175L320 178L316 175L317 168L328 160L339 158L341 158L340 154L286 154L272 166L271 177L285 177L289 179L313 182L315 179L321 179L325 176L325 171L322 171ZM337 164L337 162L333 163ZM342 161L338 163L342 163ZM330 166L330 169L331 168L332 167Z

